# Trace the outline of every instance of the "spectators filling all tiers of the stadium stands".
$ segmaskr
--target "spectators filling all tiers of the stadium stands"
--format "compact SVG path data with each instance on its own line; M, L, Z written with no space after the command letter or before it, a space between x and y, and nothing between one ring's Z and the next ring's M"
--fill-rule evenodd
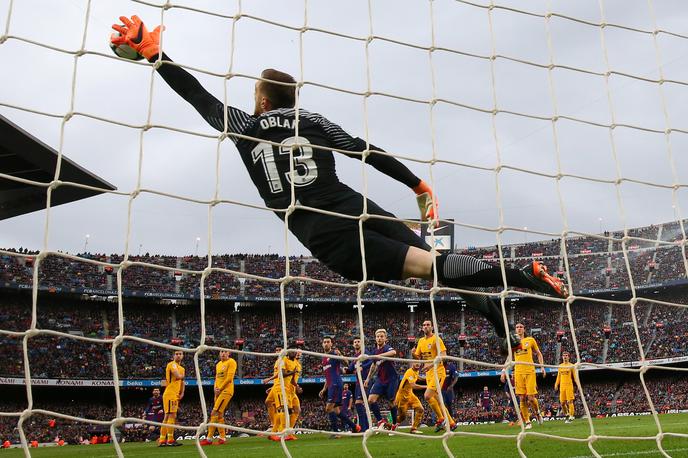
M678 223L635 228L627 231L625 243L608 237L621 238L624 233L605 233L603 236L581 236L565 240L568 274L574 292L604 290L597 300L577 299L569 306L558 302L544 302L528 298L509 298L506 302L508 321L526 324L528 335L538 341L546 364L558 364L563 350L572 352L574 359L596 364L614 364L645 359L688 356L688 324L683 320L684 307L664 303L688 304L688 293L680 286L686 280L686 264L681 247L684 240ZM565 276L561 241L538 241L503 246L501 255L508 265L520 266L530 259L540 259L550 271ZM283 312L279 305L280 279L287 273L287 259L278 255L220 255L213 256L213 271L205 280L203 290L210 299L201 316L197 300L159 300L125 296L120 310L117 302L107 300L103 291L116 290L116 274L122 255L83 253L78 258L51 254L39 263L38 281L44 289L36 304L26 291L32 284L38 253L26 249L4 250L0 254L0 329L25 331L35 327L50 332L33 335L27 340L27 354L22 349L22 337L0 334L0 377L24 377L25 358L33 378L110 380L113 378L113 339L124 340L115 347L114 362L120 379L163 378L163 368L170 360L168 349L152 342L188 348L184 366L186 377L196 377L192 349L205 335L206 345L229 347L248 353L233 353L237 359L237 377L263 378L272 374L274 352L285 341L289 346L307 351L321 351L325 336L334 337L334 345L344 355L353 356L351 341L360 335L359 313L363 334L371 346L374 331L384 328L390 344L399 357L409 357L410 349L421 336L420 326L432 319L430 305L419 296L394 287L369 285L364 291L364 306L359 310L350 301L356 294L355 285L325 268L311 258L294 257L288 260L291 277L305 277L284 285L291 298ZM460 250L487 262L498 262L499 248L467 248ZM20 254L17 256L15 254ZM130 256L133 265L122 271L122 284L129 292L175 294L180 299L200 294L200 272L208 267L207 257L172 257L144 254ZM93 262L89 262L93 261ZM163 267L156 268L152 266ZM247 273L264 280L242 277ZM315 280L315 281L310 281ZM318 281L338 283L330 285ZM640 297L652 300L627 304L627 291L633 285L652 286ZM668 287L667 284L671 287ZM397 286L428 290L429 282L409 280ZM21 286L22 288L17 288ZM98 290L96 294L69 294L74 288ZM24 291L22 291L22 289ZM64 291L67 294L61 294ZM494 289L497 291L497 289ZM222 296L259 297L256 301L222 301ZM299 301L307 298L308 301ZM376 299L368 303L366 299ZM318 299L322 301L318 302ZM409 300L410 299L410 300ZM415 300L414 300L415 299ZM503 364L498 339L492 326L483 317L447 296L439 295L434 302L438 333L447 346L447 354L460 357L459 370L494 369ZM655 302L658 301L658 302ZM35 307L35 310L34 310ZM35 311L35 314L34 314ZM202 331L205 330L205 333ZM575 341L572 335L575 330ZM57 332L52 333L52 331ZM139 339L143 339L141 341ZM217 353L207 351L199 356L201 376L214 375ZM302 359L303 376L321 373L319 357L305 354ZM493 365L493 366L490 366ZM611 379L611 377L610 377ZM493 383L490 380L488 383ZM555 416L559 409L551 381L540 391L543 411ZM485 411L476 403L481 387L463 383L457 385L455 411L460 421L502 421L515 418L511 400L499 386L490 386L496 395L494 409ZM688 408L688 381L678 376L654 377L648 383L650 396L657 410ZM584 383L588 407L592 415L648 410L649 404L637 379L621 381L588 381ZM141 400L123 390L124 415L138 417ZM139 396L140 398L140 396ZM2 411L21 411L26 406L6 400ZM583 412L577 397L576 409ZM198 424L202 412L198 402L185 403L182 424ZM300 425L327 429L328 420L322 402L313 393L302 401ZM34 408L59 411L87 419L110 419L114 404L93 402L70 403L51 400ZM263 401L251 392L238 396L232 403L228 423L256 430L268 426ZM426 409L430 415L431 409ZM92 441L93 435L107 436L108 432L92 425L50 418L35 414L24 423L31 438L53 441L60 436L70 443ZM431 424L427 418L426 423ZM51 426L52 424L52 426ZM0 417L0 440L17 440L16 417ZM144 440L148 432L141 425L125 425L126 440Z

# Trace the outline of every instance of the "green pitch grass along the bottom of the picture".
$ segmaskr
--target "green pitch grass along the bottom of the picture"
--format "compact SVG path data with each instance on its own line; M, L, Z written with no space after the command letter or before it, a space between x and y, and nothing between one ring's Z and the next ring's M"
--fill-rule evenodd
M664 432L688 433L688 414L660 415ZM654 436L657 427L651 416L616 417L594 420L597 435L613 436ZM461 426L457 431L468 433L492 434L492 437L457 436L448 440L448 446L457 457L518 457L516 435L518 426L504 424ZM571 442L538 437L537 433L554 434L575 438L585 438L589 434L586 420L577 419L572 424L562 421L545 422L535 425L532 433L523 438L521 447L529 457L590 457L592 452L585 442ZM368 440L368 449L375 457L440 457L446 456L441 440L431 439L437 436L425 430L422 436L389 436L378 434ZM155 443L125 443L122 450L125 456L131 457L164 457L175 458L198 456L193 441L184 441L182 447L157 447ZM326 435L300 435L299 439L287 442L293 457L363 457L361 438L342 437L329 439ZM595 450L602 456L609 457L659 457L663 456L654 437L649 440L608 440L595 441ZM665 436L662 441L664 450L674 457L688 457L688 438ZM262 437L232 438L222 446L204 447L209 457L232 456L247 458L285 456L279 443L270 442ZM46 447L31 450L36 457L115 457L112 445ZM0 450L1 457L23 456L21 449Z

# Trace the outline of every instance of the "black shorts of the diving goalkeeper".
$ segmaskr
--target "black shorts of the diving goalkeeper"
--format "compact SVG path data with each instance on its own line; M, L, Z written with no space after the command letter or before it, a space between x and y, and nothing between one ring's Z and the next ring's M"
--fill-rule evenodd
M367 203L368 214L394 217L370 199ZM352 192L335 204L319 208L359 216L363 213L363 196ZM357 219L296 210L289 217L289 229L331 270L352 281L363 279ZM401 280L409 246L430 251L430 246L400 221L368 219L363 223L363 241L369 280Z

